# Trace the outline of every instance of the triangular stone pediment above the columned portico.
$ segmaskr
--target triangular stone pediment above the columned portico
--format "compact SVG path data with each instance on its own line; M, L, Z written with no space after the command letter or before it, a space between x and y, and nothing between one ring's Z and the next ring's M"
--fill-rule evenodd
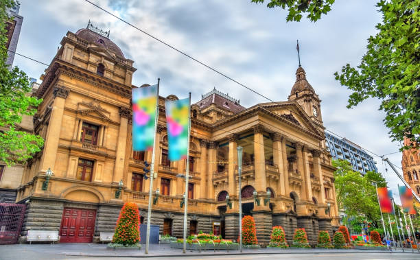
M292 126L296 126L296 128L301 128L323 137L323 133L318 130L312 119L306 115L305 111L296 102L266 103L259 106L278 115L281 119L291 123Z

